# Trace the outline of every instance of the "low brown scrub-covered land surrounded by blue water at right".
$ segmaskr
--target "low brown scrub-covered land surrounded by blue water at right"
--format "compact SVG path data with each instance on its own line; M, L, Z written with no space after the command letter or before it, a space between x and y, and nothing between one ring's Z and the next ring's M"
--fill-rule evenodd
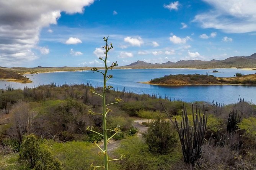
M256 74L238 77L215 77L214 75L178 74L142 82L151 85L256 85Z

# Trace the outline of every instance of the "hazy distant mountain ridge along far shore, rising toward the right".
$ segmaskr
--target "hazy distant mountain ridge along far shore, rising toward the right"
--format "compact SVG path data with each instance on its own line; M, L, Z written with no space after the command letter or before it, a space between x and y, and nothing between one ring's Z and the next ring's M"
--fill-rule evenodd
M256 53L251 56L234 56L224 60L212 59L211 61L202 60L181 60L176 63L167 61L166 63L146 63L144 61L136 61L122 68L256 68Z

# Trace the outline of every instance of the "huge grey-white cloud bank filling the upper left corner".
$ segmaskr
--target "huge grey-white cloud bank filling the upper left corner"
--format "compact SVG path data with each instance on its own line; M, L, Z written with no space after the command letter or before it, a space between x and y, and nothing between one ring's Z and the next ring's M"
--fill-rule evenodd
M94 0L4 0L0 1L0 60L15 65L37 58L40 31L57 24L61 12L83 13ZM51 31L50 31L51 32Z

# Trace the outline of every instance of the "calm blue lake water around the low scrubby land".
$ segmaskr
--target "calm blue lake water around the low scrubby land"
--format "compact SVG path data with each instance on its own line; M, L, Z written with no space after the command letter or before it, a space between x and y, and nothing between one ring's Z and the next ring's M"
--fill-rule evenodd
M219 73L211 73L217 70ZM246 101L256 103L256 86L246 85L191 85L191 86L155 86L147 85L139 82L146 82L150 79L163 77L170 74L212 74L216 77L232 77L236 72L242 74L253 74L256 71L248 71L242 69L114 69L109 74L114 77L107 84L112 85L115 89L139 94L157 94L161 97L170 96L172 99L182 99L183 101L207 101L216 100L218 103L230 104L238 100L239 95ZM93 73L92 71L76 71L76 72L54 72L44 74L28 74L33 83L15 83L0 82L0 89L5 89L7 83L17 89L27 87L37 87L38 85L49 84L54 82L58 85L65 83L91 83L93 86L102 86L102 74Z

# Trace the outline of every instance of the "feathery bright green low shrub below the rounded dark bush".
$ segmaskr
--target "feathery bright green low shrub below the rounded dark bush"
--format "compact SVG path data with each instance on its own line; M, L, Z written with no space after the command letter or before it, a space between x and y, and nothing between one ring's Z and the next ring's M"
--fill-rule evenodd
M126 157L114 162L119 170L170 170L173 163L182 158L178 147L168 155L153 154L137 136L121 141L121 146L114 151L114 155L120 154L125 154Z

